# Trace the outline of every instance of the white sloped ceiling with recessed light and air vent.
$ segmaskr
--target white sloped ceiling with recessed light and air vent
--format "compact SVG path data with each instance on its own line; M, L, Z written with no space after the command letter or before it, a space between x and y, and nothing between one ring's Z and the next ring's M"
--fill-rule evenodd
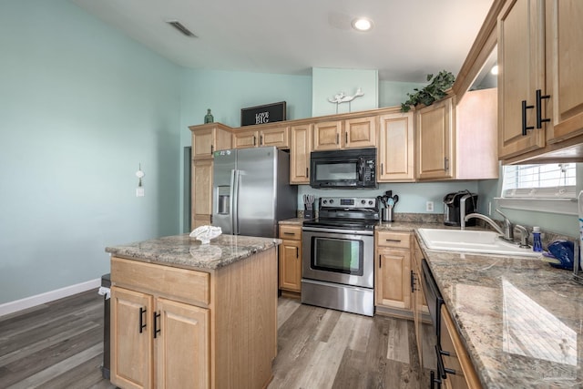
M378 69L383 80L457 74L493 0L71 0L183 67L310 75ZM368 33L351 20L373 20ZM181 35L166 21L188 27Z

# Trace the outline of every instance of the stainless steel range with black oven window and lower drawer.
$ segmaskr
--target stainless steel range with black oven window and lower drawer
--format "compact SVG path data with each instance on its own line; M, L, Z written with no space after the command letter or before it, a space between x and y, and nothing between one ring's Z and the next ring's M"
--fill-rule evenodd
M375 198L320 198L302 227L302 302L374 314Z

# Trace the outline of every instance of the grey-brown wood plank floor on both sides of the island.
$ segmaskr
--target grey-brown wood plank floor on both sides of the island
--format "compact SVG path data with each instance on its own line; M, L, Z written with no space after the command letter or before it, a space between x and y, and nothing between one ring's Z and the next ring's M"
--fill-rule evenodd
M269 389L429 387L413 322L280 298L278 326ZM102 342L97 291L0 317L0 388L115 388L101 376Z

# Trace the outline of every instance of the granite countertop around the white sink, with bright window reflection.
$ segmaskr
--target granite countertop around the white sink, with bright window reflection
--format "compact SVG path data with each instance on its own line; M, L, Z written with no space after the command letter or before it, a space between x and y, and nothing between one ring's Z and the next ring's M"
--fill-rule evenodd
M583 285L572 271L418 241L485 388L583 386Z

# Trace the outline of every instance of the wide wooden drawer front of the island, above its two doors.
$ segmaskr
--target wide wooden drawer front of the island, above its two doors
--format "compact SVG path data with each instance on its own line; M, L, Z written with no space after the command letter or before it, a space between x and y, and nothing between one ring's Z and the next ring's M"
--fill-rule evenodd
M203 271L112 257L111 282L138 292L155 292L180 302L210 303L210 274Z

